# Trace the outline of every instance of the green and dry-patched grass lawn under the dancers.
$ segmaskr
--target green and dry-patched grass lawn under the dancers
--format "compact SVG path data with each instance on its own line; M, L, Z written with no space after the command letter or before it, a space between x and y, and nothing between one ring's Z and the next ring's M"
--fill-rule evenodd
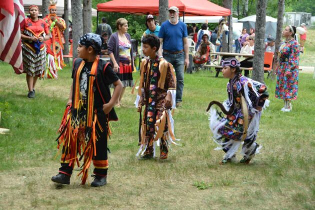
M25 74L0 63L0 208L46 209L314 209L315 85L312 74L299 75L298 99L283 113L274 97L275 81L265 79L270 106L261 117L257 142L261 153L248 165L219 165L205 108L210 100L226 98L220 74L185 74L183 106L175 110L175 136L166 161L139 161L138 113L135 95L127 89L116 109L108 146L107 185L82 186L74 171L69 186L50 181L59 167L56 130L71 84L68 68L58 80L38 80L36 97L28 99ZM138 77L138 73L133 74ZM266 75L265 75L266 77ZM237 156L238 159L241 156ZM91 168L93 168L91 166Z

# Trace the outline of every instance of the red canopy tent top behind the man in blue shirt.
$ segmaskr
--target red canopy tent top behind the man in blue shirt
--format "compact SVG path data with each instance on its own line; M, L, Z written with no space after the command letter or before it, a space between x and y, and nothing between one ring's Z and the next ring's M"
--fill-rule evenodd
M208 0L168 0L187 16L228 16L231 11ZM97 11L158 15L158 0L111 0L96 5Z

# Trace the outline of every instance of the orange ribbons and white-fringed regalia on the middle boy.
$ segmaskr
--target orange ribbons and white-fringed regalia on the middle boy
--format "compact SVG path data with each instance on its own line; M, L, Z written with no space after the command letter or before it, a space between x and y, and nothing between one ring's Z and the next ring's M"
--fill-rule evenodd
M153 67L156 67L157 70L160 72L160 75L157 79L157 76L154 76L155 73L153 73L153 77L151 78L151 81L148 81L148 73L150 72L150 60L149 59L142 59L142 63L140 66L140 83L139 83L139 89L138 89L138 95L137 98L134 102L134 104L136 105L136 107L139 104L139 100L140 100L140 96L142 96L142 101L140 101L141 106L143 105L143 98L145 97L144 94L144 88L148 88L150 87L148 90L148 94L149 95L155 95L157 92L157 88L160 89L164 89L164 85L165 85L165 79L166 79L166 74L167 74L167 68L170 68L170 71L172 73L172 77L174 78L174 86L176 86L175 84L175 77L173 74L173 68L171 65L168 66L168 63L165 59L161 58L159 60L159 64L158 66L153 65ZM153 69L152 69L153 71ZM154 71L153 71L154 72ZM149 91L151 91L151 94L149 93ZM153 92L153 93L152 93ZM176 90L173 88L169 88L167 90L167 92L171 93L171 97L172 97L172 107L175 108L175 95L176 95ZM149 96L148 99L148 104L146 104L146 106L149 106L150 109L149 110L144 110L143 111L143 118L141 119L141 125L140 125L140 130L139 130L139 145L140 148L138 149L138 152L136 153L136 156L139 155L143 155L144 152L146 151L146 148L148 146L152 146L153 145L153 156L155 157L155 147L156 145L159 146L159 142L160 142L160 138L163 138L166 141L166 146L167 148L170 146L170 144L178 144L175 141L178 141L180 139L176 139L174 136L174 120L172 118L172 114L170 109L165 109L165 110L157 110L156 109L156 98L155 97L151 97ZM156 96L156 95L155 95ZM141 109L141 108L140 108ZM149 138L147 135L148 129L147 128L147 120L146 117L147 115L149 115L149 113L156 113L156 114L152 114L152 117L155 118L155 116L159 116L158 119L156 119L155 123L154 123L154 134L153 134L153 138ZM141 117L141 113L140 113L140 117ZM166 129L165 129L166 128Z

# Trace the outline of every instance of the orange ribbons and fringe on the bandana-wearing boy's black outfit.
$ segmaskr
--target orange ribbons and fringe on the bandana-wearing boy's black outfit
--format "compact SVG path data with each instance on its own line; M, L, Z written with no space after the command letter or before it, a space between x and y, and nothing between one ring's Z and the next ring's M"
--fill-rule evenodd
M98 121L97 110L94 108L93 84L97 84L96 73L98 62L99 58L97 57L92 64L90 76L87 81L86 116L84 116L83 126L81 116L79 116L80 110L83 108L79 89L80 73L85 63L82 60L73 77L72 104L66 107L58 129L60 135L57 138L57 148L60 148L60 145L63 146L61 162L69 163L69 166L72 168L75 164L82 168L78 173L78 176L82 174L81 184L85 183L92 157L96 155L96 140L98 140L103 131L106 131L107 134L110 133L109 126L102 126L102 123ZM83 164L80 166L79 161L82 158Z

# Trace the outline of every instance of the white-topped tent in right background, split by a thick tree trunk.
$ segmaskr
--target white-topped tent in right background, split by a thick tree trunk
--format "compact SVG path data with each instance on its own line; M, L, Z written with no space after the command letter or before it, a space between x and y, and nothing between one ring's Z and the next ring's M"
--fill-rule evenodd
M247 28L247 31L249 31L249 28L255 28L255 22L256 22L256 15L250 15L244 18L241 18L238 20L238 22L242 22L243 23L243 27ZM265 26L265 37L267 37L269 34L272 35L272 37L275 38L275 34L276 34L276 22L277 19L270 17L270 16L266 16L266 26ZM255 28L255 30L258 30L259 28Z

